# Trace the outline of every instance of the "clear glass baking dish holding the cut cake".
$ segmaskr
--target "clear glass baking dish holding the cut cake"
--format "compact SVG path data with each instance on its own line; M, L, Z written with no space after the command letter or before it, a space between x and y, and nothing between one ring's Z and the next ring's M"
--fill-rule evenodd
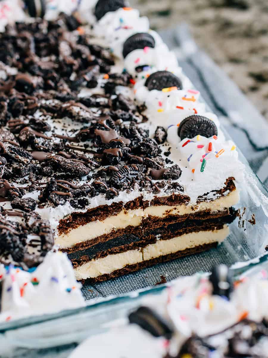
M230 139L224 128L221 129ZM138 304L141 296L152 292L157 294L169 281L179 276L209 272L212 266L220 263L230 266L263 255L268 245L268 192L239 149L238 152L240 161L245 165L245 182L238 187L241 198L236 208L240 215L230 225L230 234L221 245L110 281L94 285L86 283L82 292L88 304L83 308L0 323L0 343L3 340L0 357L4 349L15 348L14 357L21 357L17 355L18 347L46 349L81 342L88 337L89 331L90 334L102 332L105 329L103 324L123 317L126 310ZM267 265L266 256L263 261ZM167 284L148 288L165 281ZM142 291L138 293L136 290Z

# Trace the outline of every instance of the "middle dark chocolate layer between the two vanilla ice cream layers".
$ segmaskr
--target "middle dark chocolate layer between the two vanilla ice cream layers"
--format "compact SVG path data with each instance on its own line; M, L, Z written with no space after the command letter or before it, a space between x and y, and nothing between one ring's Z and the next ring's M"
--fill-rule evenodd
M224 214L223 214L224 215ZM210 231L213 229L222 229L224 224L230 224L237 216L237 212L230 208L226 209L225 216L220 216L220 213L211 214L209 218L185 218L184 221L174 222L174 218L159 219L158 223L153 223L149 229L149 222L143 234L140 228L133 228L133 233L128 233L127 230L124 235L115 238L108 236L107 241L99 242L90 248L81 251L71 252L69 258L73 262L74 267L78 267L90 260L106 257L115 253L125 252L137 248L142 248L150 243L155 243L157 240L169 240L175 236L181 236L186 233Z

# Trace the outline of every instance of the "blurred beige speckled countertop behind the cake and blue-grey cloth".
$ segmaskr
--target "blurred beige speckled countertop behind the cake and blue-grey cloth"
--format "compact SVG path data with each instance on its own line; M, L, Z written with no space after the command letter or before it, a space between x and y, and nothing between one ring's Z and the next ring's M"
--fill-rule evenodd
M185 21L268 121L268 0L131 0L151 28Z

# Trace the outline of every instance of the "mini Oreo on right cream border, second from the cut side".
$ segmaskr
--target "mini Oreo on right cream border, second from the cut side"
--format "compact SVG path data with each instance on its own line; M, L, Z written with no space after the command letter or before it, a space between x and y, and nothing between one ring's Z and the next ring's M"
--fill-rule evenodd
M145 86L152 91L152 89L157 89L162 91L163 88L177 87L182 89L182 81L175 76L175 74L169 71L157 71L152 73L146 80Z

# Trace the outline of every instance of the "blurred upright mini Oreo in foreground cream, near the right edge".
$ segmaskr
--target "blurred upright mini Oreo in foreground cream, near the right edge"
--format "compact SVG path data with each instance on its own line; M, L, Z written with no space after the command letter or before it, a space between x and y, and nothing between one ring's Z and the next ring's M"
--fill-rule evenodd
M209 280L213 286L213 295L229 298L233 290L232 272L226 265L218 265L212 268Z

